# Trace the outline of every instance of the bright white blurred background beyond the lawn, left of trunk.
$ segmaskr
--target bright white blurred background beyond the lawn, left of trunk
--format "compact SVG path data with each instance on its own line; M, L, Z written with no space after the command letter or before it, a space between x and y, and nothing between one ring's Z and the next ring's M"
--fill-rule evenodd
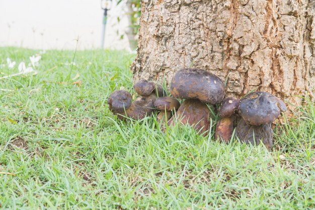
M101 48L104 10L104 48L135 50L140 0L0 0L0 46Z

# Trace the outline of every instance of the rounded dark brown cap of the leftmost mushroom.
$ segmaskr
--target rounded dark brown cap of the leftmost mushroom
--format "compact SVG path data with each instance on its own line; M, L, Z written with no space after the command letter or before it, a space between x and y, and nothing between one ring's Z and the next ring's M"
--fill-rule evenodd
M130 93L128 93L127 91L119 90L111 93L107 100L107 103L111 111L122 112L130 107L131 99L132 96Z

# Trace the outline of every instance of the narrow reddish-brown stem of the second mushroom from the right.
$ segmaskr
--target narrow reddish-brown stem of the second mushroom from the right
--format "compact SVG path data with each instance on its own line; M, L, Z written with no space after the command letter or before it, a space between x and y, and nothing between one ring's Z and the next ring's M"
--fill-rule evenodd
M214 139L229 143L233 133L233 116L221 118L215 128Z

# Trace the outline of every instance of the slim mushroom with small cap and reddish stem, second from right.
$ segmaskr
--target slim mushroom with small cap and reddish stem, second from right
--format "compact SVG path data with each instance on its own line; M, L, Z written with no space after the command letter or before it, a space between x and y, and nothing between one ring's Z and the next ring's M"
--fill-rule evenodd
M240 100L232 97L225 98L222 101L219 110L221 119L218 121L214 138L221 142L228 143L233 133L234 111L239 108Z

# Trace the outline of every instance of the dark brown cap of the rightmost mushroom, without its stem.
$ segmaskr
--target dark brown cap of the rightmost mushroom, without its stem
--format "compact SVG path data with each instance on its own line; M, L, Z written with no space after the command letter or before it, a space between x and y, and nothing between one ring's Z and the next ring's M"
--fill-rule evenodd
M283 101L266 92L253 92L240 102L239 113L250 125L272 123L286 107Z

